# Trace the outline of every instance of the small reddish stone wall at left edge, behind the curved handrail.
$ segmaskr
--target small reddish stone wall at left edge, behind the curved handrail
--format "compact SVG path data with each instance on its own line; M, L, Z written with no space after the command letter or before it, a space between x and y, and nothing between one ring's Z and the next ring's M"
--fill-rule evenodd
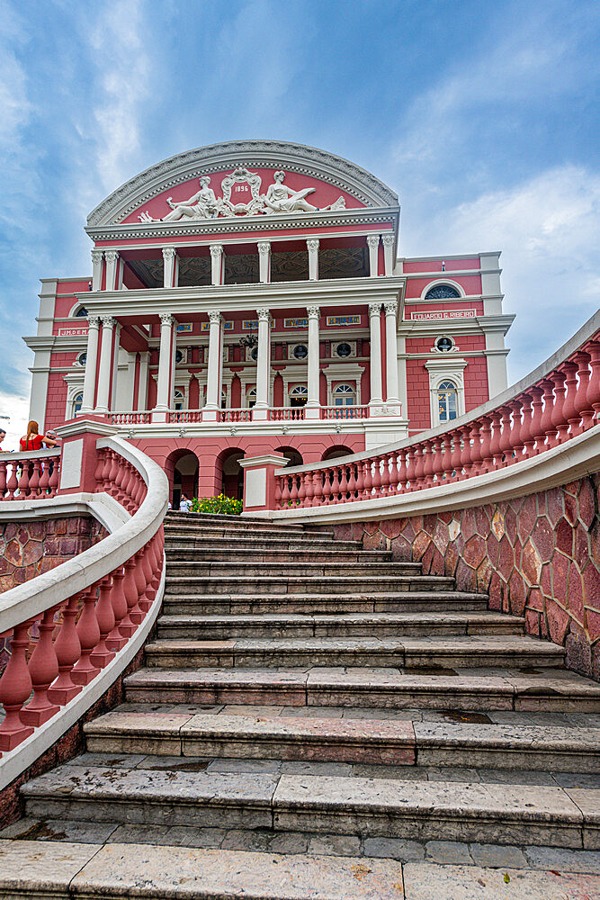
M0 524L0 593L54 569L105 536L103 526L87 516Z

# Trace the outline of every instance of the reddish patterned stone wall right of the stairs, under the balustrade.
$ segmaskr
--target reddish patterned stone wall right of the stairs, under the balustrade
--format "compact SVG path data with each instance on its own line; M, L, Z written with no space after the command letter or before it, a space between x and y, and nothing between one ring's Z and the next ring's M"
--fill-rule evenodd
M516 500L335 531L453 575L459 590L488 592L491 609L524 616L530 635L566 647L569 668L600 680L599 505L596 473Z

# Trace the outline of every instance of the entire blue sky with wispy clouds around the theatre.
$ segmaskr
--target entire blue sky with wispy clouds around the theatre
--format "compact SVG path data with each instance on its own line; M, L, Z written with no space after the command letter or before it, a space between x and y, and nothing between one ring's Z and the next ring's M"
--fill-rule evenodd
M9 437L39 278L90 272L85 217L131 175L227 139L369 169L403 255L501 249L522 377L598 306L599 21L587 0L0 0Z

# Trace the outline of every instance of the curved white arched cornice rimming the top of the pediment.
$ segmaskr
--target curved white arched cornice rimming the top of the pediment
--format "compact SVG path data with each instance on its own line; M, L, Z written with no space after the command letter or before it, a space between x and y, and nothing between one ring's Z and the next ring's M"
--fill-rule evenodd
M283 168L310 175L352 193L367 206L398 203L398 195L361 166L327 150L283 140L228 140L179 153L130 178L90 213L88 225L122 221L131 212L176 184L191 178L226 172L243 165Z

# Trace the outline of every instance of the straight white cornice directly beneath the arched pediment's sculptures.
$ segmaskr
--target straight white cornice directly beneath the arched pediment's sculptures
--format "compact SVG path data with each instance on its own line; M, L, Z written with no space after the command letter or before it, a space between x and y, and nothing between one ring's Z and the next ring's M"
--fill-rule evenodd
M264 231L284 229L306 230L344 225L388 224L394 220L398 229L399 206L381 206L377 209L349 209L336 212L310 212L297 215L280 213L273 216L231 216L227 219L195 219L191 222L127 222L124 225L88 225L86 233L94 241L199 237L209 239L229 232L259 234ZM323 237L323 236L321 236ZM265 238L268 239L268 238ZM176 245L175 245L176 246Z

